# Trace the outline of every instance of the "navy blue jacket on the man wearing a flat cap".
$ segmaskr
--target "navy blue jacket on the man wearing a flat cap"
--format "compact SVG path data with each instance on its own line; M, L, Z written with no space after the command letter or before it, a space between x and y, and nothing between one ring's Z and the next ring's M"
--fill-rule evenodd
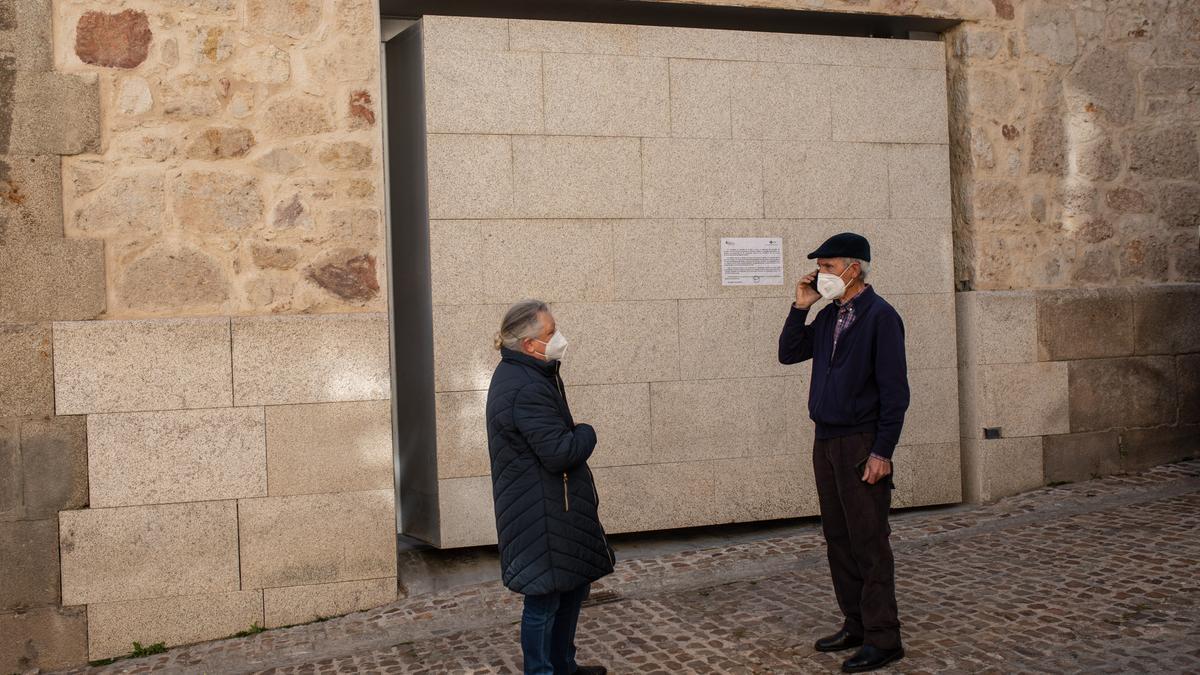
M836 352L838 305L827 305L809 325L809 311L792 305L779 335L779 363L812 359L809 417L817 438L871 432L871 453L890 459L908 410L904 322L870 286L852 301L854 322L838 339Z

